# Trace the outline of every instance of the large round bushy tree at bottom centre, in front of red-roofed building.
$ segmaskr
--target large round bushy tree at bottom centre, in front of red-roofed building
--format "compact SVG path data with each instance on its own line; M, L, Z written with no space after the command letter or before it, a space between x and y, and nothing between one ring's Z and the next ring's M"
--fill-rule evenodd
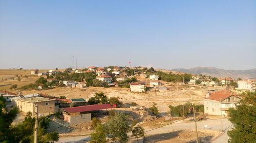
M130 131L128 121L128 115L116 113L106 122L106 132L113 141L119 140L121 143L128 141L127 132Z

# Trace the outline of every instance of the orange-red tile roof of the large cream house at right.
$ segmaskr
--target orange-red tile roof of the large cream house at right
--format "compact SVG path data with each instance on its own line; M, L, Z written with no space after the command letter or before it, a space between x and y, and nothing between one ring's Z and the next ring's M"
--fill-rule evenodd
M232 95L237 96L237 94L235 94L235 93L232 93L227 90L222 90L222 91L210 93L210 97L208 97L206 99L221 101L221 100L225 100L226 98L228 98Z

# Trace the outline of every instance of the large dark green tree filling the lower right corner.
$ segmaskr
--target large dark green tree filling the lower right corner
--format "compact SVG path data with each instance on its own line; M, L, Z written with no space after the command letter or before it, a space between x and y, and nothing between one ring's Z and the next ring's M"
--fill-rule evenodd
M256 92L241 95L244 99L236 105L237 109L229 108L229 121L234 128L228 131L231 143L255 142L256 132Z

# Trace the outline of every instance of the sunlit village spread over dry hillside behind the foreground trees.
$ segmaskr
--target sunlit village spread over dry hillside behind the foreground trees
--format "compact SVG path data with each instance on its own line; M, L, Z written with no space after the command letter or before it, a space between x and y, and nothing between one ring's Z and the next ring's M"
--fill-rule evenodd
M96 118L101 123L107 122L113 111L126 113L129 124L145 129L147 133L141 141L161 142L158 134L174 131L180 131L178 136L185 142L195 140L191 135L195 129L190 125L195 119L198 124L227 120L228 109L236 107L242 100L239 95L256 89L255 79L218 78L145 67L91 66L25 72L27 74L22 81L33 78L34 83L22 87L3 84L14 80L18 83L22 75L2 80L1 88L10 87L0 92L6 99L7 108L19 109L19 116L13 124L23 122L27 112L34 117L47 117L50 120L48 130L60 135L57 142L89 141L90 134L95 130L92 120ZM197 109L193 109L192 105L196 105ZM183 110L172 111L178 106L183 106ZM196 117L193 116L194 110ZM184 124L184 128L155 130L175 122ZM228 125L224 124L225 127ZM202 142L212 141L223 133L223 123L218 128L202 126L198 126ZM165 141L177 139L174 137ZM130 142L134 140L129 139Z

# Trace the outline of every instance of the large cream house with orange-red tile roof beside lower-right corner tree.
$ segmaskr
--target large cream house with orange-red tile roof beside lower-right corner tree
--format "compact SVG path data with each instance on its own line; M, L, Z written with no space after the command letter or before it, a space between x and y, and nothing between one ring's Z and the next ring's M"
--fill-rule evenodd
M228 90L215 91L206 94L204 99L205 115L227 115L229 108L236 107L242 98Z

